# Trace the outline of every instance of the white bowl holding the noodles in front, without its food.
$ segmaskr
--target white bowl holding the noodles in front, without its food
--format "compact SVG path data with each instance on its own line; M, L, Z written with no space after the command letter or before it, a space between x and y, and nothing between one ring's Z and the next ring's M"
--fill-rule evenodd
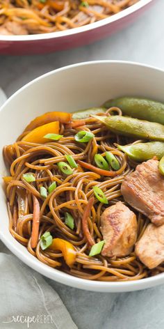
M33 80L11 96L0 110L0 176L6 175L2 148L12 144L31 119L48 111L72 112L101 105L108 98L136 95L164 102L164 71L138 63L93 61L60 68ZM57 282L80 289L121 292L164 283L164 273L131 282L79 279L50 268L33 257L8 231L6 197L0 178L0 238L19 259Z

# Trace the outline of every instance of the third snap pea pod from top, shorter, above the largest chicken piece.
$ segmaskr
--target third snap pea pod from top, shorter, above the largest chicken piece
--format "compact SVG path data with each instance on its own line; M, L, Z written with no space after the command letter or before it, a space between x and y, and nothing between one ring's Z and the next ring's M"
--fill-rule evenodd
M152 159L154 156L160 160L164 155L163 141L149 141L131 145L117 145L120 151L126 153L132 160L142 162Z

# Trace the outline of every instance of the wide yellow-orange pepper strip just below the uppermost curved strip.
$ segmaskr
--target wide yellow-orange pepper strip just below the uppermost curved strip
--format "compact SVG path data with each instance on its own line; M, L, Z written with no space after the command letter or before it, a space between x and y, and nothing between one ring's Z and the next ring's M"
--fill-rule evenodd
M47 143L47 141L51 141L51 139L44 138L45 135L58 134L58 132L59 122L50 122L46 125L41 125L40 127L31 130L31 132L28 132L28 134L22 138L22 141L30 141L31 143L44 144Z

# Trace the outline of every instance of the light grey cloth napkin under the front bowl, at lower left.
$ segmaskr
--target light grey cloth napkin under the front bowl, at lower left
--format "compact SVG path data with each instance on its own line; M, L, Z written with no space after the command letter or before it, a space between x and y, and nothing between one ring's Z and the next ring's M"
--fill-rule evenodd
M0 107L6 95L0 88ZM0 328L77 329L58 293L0 241Z

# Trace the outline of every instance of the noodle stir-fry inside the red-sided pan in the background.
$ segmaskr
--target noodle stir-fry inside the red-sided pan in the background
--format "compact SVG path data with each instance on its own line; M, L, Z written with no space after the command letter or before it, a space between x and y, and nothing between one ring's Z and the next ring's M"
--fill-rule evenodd
M19 36L65 31L110 17L136 2L138 0L2 0L0 34Z

